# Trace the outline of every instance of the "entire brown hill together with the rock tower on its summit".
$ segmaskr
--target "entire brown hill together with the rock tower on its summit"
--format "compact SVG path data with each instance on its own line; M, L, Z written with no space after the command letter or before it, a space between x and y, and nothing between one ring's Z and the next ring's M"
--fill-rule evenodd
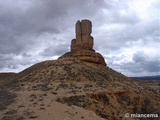
M0 119L150 120L125 113L160 115L160 94L109 68L93 49L91 32L91 21L77 21L70 52L17 74L0 74Z

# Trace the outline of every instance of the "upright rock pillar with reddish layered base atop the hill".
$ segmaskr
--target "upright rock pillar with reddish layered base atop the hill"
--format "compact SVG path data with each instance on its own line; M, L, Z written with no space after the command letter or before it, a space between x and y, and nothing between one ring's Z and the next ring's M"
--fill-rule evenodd
M93 49L92 22L90 20L78 20L75 31L76 39L71 41L71 52L62 55L59 59L74 57L84 62L106 66L103 56Z

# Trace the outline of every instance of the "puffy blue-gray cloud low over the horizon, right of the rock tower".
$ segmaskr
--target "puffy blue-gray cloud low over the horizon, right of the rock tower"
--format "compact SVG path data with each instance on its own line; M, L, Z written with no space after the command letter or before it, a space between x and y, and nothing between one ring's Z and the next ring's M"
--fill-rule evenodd
M132 61L114 63L114 61L119 61L123 58L124 56L109 59L110 66L128 76L149 76L160 74L160 56L157 56L157 59L151 59L150 56L143 51L137 51L133 54L131 58Z

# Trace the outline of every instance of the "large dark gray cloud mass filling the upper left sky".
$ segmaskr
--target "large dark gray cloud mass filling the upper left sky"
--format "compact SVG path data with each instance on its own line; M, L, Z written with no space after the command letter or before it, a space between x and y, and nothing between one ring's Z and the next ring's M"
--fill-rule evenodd
M67 0L63 2L57 0L41 0L39 2L32 2L33 3L30 3L31 5L26 7L25 11L21 11L23 2L21 3L22 6L18 7L15 5L8 5L6 7L1 5L1 9L4 12L1 12L0 17L0 42L2 43L0 51L6 51L7 49L8 52L16 53L25 49L26 44L37 44L33 44L33 41L36 39L27 39L26 37L28 36L35 38L45 32L50 34L65 32L65 30L70 27L69 25L73 25L75 20L77 20L77 18L74 18L73 23L69 22L72 19L70 15L81 14L82 16L88 16L90 13L96 14L97 9L99 9L98 7L103 5L103 1L97 4L95 0L72 0L70 2ZM12 45L10 45L10 43L12 43Z

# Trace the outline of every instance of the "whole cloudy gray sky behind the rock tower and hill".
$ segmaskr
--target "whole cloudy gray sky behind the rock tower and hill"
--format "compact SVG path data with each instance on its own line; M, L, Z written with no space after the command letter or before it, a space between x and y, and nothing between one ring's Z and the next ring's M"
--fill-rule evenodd
M160 75L160 0L1 0L0 72L20 72L70 51L77 20L94 49L126 76Z

